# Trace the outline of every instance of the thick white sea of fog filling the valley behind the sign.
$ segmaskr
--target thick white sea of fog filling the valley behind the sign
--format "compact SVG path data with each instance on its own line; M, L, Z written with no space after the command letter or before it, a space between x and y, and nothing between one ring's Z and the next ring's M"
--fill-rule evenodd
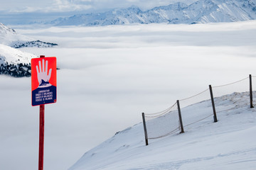
M256 21L105 27L11 26L58 47L20 50L57 57L57 103L46 105L48 170L176 100L256 75ZM209 94L210 95L210 94ZM39 107L31 79L0 76L0 169L37 169Z

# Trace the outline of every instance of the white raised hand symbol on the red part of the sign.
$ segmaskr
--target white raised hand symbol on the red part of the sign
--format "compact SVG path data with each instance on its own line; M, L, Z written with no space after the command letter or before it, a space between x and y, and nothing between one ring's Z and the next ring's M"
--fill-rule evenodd
M48 61L46 61L46 68L45 68L44 59L43 59L43 67L41 67L41 61L39 61L39 69L38 69L38 66L36 66L36 72L37 72L37 76L38 76L39 86L41 85L42 80L45 81L45 82L49 82L51 71L52 71L52 69L50 69L49 73L47 74L47 72L48 72Z

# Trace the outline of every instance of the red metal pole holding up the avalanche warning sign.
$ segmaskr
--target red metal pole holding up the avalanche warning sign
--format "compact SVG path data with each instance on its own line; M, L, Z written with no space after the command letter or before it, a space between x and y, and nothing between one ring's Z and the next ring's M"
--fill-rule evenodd
M40 56L45 57L44 55ZM45 105L40 106L40 123L39 123L39 155L38 155L38 170L43 170L43 143L44 143L44 111Z

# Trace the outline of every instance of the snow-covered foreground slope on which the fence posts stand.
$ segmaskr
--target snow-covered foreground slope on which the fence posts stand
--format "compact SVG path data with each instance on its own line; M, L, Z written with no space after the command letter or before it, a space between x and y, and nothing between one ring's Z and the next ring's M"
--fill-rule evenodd
M69 170L253 170L256 166L256 108L250 108L249 98L248 92L215 98L217 123L213 123L210 116L186 127L182 134L149 140L148 146L144 143L142 123L139 123L86 152ZM212 111L211 106L203 103L188 107Z

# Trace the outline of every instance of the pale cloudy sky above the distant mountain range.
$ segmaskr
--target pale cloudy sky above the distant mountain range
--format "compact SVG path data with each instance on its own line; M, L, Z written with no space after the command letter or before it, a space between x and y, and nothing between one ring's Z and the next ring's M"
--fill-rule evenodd
M147 9L155 6L174 4L177 1L190 3L196 0L9 0L1 1L0 11L8 13L100 11L109 8L124 8L132 5Z

